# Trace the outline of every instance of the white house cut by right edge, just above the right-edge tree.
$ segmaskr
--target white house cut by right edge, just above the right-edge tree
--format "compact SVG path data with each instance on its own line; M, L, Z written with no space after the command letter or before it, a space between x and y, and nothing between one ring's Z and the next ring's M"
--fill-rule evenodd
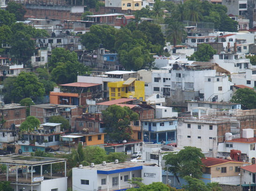
M250 88L256 87L256 67L246 68L243 74L231 74L235 85L244 85Z

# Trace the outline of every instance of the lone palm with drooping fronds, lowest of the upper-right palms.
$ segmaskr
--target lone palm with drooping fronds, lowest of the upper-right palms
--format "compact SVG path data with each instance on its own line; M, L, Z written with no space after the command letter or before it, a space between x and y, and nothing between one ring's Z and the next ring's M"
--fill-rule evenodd
M182 22L170 20L168 23L168 36L172 39L173 46L176 47L177 41L181 41L186 34Z

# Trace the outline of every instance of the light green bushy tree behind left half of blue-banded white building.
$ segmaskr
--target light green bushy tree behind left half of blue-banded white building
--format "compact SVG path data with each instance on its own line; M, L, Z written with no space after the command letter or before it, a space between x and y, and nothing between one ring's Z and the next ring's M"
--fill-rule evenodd
M106 151L98 146L87 146L84 152L88 163L101 164L106 160Z

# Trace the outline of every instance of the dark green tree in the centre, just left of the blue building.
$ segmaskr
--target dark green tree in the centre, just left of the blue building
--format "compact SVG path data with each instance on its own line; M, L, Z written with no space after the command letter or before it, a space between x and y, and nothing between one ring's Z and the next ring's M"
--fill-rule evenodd
M139 115L128 107L111 105L102 111L106 132L112 142L122 142L124 139L130 140L132 128L130 123L136 121Z

